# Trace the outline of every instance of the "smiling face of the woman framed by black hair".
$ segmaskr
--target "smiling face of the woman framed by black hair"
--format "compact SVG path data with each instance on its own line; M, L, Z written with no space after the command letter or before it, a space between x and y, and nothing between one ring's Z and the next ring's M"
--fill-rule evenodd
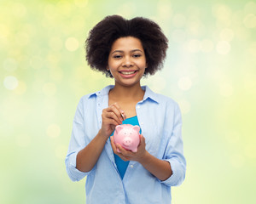
M142 42L136 37L120 37L113 42L108 56L108 67L115 85L140 85L147 67Z

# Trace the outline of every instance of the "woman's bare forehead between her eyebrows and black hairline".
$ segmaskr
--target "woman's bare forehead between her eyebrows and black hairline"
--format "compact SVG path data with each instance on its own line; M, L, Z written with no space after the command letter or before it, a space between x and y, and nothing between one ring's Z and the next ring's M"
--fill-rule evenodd
M112 44L111 50L132 50L141 49L143 50L143 44L137 37L119 37Z

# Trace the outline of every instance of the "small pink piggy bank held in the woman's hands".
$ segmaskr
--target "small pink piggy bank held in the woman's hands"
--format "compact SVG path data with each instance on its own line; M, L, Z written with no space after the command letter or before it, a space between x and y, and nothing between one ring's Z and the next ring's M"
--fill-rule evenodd
M140 127L130 124L118 125L113 133L114 144L120 144L125 150L137 152L137 146L140 144ZM118 152L119 149L117 149Z

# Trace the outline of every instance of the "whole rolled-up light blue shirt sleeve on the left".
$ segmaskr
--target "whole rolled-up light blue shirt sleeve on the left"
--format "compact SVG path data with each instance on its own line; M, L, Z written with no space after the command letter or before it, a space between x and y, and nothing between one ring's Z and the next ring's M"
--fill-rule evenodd
M73 119L73 130L65 159L67 174L73 181L79 181L88 173L79 171L76 168L77 155L79 150L84 149L86 145L84 137L84 105L83 99L80 99L77 111Z

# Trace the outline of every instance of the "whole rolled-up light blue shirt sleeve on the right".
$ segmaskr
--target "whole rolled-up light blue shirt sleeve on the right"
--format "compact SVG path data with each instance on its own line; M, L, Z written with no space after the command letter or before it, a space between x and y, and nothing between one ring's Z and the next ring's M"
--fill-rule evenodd
M186 173L186 160L183 156L182 117L177 104L175 105L173 117L173 129L170 134L171 137L168 138L163 159L170 163L172 176L161 181L161 183L168 186L176 186L183 183Z

